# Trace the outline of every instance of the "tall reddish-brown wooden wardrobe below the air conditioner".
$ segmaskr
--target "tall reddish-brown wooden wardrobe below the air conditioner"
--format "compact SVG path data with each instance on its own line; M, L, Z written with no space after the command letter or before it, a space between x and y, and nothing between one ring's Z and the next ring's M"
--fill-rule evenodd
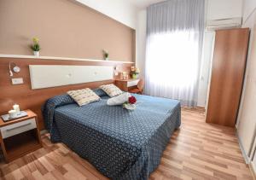
M207 123L234 127L247 60L248 28L218 30L212 59Z

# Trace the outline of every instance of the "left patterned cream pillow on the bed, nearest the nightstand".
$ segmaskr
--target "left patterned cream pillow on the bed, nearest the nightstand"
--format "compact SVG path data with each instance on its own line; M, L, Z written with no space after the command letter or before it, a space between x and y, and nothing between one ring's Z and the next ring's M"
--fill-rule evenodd
M70 90L67 91L67 94L71 96L73 100L79 104L79 106L89 104L90 102L97 102L101 99L101 97L97 96L95 92L89 88L82 90Z

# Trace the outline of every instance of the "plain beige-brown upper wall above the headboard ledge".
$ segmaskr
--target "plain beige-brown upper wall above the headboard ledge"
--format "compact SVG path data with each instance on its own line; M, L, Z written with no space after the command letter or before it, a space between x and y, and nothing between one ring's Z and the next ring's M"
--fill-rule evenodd
M99 2L100 3L100 2ZM1 0L0 54L40 55L134 61L135 30L73 0Z

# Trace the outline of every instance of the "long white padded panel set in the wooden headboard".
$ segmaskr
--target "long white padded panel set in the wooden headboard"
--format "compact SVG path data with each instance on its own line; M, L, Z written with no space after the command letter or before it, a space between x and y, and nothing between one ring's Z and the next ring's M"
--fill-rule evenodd
M113 79L113 67L29 65L32 90Z

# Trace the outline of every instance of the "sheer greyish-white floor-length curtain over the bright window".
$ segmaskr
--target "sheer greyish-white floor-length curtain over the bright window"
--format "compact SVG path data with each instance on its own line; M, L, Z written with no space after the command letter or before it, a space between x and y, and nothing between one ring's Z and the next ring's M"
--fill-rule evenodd
M170 0L148 7L145 93L197 103L204 0Z

